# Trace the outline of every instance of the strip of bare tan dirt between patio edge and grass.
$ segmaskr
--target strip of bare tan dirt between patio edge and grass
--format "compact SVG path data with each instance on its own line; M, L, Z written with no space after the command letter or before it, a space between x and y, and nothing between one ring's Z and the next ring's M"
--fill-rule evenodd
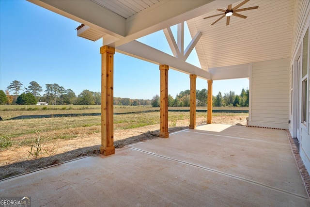
M213 117L215 124L243 125L246 126L245 115ZM178 121L178 127L170 127L170 132L188 128L187 121ZM196 120L197 125L205 124L202 119ZM114 145L121 148L124 145L146 140L156 139L159 134L159 125L146 127L114 130ZM84 156L97 156L100 154L101 133L82 135L73 139L55 140L42 145L40 159L29 156L29 146L9 147L0 153L0 179L20 175L38 170L50 165L77 159ZM42 143L43 144L43 143ZM45 151L46 150L46 151Z

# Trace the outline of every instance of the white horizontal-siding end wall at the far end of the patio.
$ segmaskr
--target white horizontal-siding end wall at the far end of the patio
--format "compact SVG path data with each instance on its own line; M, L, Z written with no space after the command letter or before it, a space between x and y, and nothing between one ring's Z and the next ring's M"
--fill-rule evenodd
M248 126L288 128L289 58L252 63Z

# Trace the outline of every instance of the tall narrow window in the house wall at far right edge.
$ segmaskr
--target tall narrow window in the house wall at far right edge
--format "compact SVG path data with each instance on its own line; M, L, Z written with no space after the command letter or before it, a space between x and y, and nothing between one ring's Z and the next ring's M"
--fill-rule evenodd
M309 29L305 33L302 45L302 76L301 76L301 123L307 123L307 92L308 92L308 39Z

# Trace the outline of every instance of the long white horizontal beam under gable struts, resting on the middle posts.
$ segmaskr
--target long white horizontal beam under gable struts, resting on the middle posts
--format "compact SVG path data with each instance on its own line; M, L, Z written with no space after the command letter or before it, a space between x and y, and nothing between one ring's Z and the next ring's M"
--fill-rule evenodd
M115 48L117 52L139 58L154 64L167 64L170 68L187 73L194 74L202 79L211 79L211 74L202 68L186 63L160 50L147 46L138 41L132 41Z

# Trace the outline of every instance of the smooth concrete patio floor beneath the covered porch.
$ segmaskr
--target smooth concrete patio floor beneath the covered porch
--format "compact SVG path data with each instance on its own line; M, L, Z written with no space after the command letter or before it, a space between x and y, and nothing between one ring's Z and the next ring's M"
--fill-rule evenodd
M36 206L310 207L285 130L204 125L0 182Z

